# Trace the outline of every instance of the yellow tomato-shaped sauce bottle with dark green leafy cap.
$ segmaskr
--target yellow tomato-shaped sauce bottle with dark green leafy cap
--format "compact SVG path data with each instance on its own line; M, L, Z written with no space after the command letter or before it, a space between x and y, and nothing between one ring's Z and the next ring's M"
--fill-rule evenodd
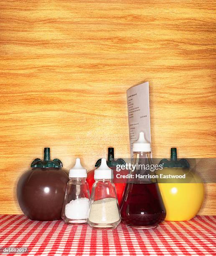
M186 159L177 161L176 148L171 148L170 161L163 159L160 164L163 169L156 174L159 176L158 185L167 212L165 220L191 220L204 200L205 190L201 177L190 169Z

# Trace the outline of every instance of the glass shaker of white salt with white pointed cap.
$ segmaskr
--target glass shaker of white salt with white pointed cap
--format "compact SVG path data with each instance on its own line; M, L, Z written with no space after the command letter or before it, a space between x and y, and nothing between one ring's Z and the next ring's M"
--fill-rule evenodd
M89 185L87 171L81 166L80 159L69 171L61 218L67 224L86 224L89 209Z

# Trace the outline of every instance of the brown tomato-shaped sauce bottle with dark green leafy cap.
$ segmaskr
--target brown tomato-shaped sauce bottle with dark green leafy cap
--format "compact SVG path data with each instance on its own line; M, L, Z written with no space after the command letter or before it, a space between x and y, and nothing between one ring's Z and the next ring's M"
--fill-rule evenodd
M31 220L60 220L67 182L66 170L59 159L50 160L50 148L44 159L35 159L17 184L17 199L23 213Z

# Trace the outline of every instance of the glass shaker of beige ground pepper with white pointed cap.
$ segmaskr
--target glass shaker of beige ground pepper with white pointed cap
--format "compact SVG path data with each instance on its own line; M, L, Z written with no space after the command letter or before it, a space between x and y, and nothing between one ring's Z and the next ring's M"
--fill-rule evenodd
M105 158L94 171L95 182L91 191L88 223L94 228L116 228L121 221L113 170L107 166Z

